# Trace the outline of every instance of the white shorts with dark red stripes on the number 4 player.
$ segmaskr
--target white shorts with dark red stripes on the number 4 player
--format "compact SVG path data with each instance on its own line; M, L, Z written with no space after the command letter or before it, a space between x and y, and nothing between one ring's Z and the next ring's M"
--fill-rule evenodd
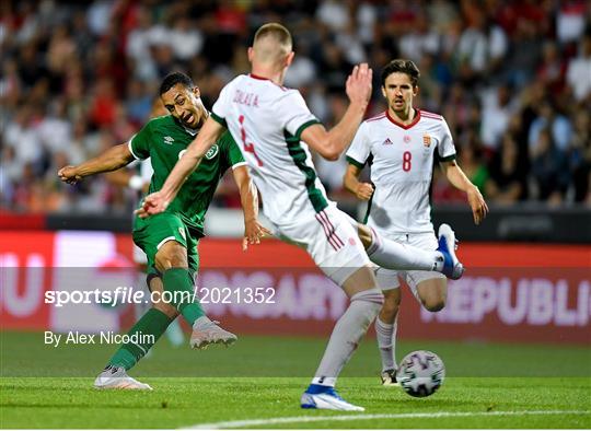
M302 211L297 223L273 228L276 236L304 248L327 277L343 286L359 268L372 265L349 219L329 205L317 213Z

